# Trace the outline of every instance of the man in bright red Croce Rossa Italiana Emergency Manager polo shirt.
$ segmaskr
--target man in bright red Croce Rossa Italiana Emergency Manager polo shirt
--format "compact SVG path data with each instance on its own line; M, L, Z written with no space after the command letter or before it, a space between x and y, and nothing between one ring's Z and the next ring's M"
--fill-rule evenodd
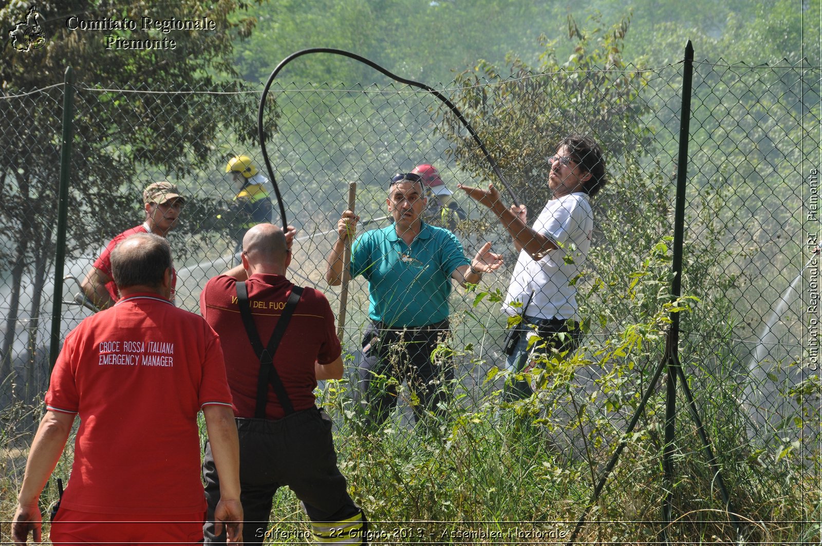
M40 541L38 499L81 418L71 478L51 528L55 544L194 544L203 538L197 414L219 473L217 527L242 530L239 456L219 337L175 308L171 249L136 234L111 253L122 298L67 335L45 397L12 523Z

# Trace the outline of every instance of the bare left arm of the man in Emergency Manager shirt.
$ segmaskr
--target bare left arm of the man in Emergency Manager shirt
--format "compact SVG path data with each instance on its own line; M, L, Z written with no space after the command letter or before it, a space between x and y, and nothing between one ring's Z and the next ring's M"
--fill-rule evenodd
M74 414L64 414L48 410L40 421L31 444L29 459L25 462L25 475L17 508L12 520L12 539L15 544L25 544L32 533L32 539L40 542L43 522L37 505L48 476L57 466L62 450L66 447L68 435L72 432Z

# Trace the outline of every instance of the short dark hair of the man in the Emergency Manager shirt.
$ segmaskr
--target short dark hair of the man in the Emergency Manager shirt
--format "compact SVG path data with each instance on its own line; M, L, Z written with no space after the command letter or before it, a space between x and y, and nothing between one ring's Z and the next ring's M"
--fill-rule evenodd
M125 243L139 240L139 244ZM155 234L124 238L111 252L111 274L118 289L132 286L159 288L171 267L171 246Z

